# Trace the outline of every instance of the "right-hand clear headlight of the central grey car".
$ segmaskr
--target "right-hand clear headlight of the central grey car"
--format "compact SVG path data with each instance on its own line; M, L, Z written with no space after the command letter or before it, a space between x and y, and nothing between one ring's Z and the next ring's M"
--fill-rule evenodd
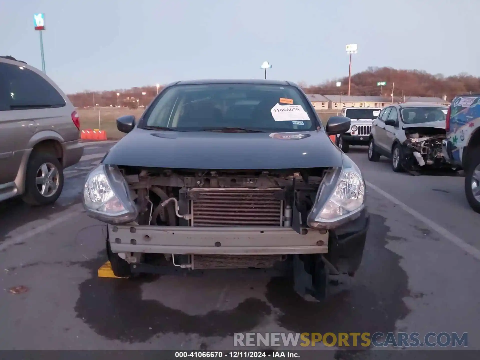
M307 218L312 228L335 228L350 221L365 207L365 183L360 169L342 154L343 166L325 176Z

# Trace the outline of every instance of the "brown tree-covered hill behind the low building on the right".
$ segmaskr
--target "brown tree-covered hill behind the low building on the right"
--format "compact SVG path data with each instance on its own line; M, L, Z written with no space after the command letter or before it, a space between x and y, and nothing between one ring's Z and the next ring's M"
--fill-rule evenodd
M340 87L336 86L340 82ZM377 86L377 82L386 82L386 86ZM395 83L394 96L447 96L448 100L459 94L480 93L480 78L461 73L445 77L443 74L432 75L419 70L397 70L388 67L369 67L366 71L352 75L350 95L391 96L392 84ZM303 85L303 86L302 86ZM348 93L348 76L325 82L324 84L306 86L300 84L307 94L337 95ZM382 94L380 94L382 92Z

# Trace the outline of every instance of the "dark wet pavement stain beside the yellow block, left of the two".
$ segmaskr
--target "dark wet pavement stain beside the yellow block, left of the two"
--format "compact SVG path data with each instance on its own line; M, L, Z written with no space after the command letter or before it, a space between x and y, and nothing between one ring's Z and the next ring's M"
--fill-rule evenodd
M249 298L235 309L214 310L204 315L189 315L171 309L156 300L143 300L141 285L159 276L133 279L98 278L96 272L107 260L104 252L82 266L92 277L79 285L80 297L75 305L76 317L96 334L122 342L145 342L157 334L197 334L199 336L232 336L259 325L271 314L264 301Z

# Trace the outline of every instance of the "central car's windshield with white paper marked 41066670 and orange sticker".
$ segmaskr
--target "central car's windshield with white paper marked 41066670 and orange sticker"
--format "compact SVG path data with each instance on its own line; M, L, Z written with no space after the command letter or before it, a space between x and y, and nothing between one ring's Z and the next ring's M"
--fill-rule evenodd
M314 130L315 114L294 86L174 85L152 104L139 128L177 131Z

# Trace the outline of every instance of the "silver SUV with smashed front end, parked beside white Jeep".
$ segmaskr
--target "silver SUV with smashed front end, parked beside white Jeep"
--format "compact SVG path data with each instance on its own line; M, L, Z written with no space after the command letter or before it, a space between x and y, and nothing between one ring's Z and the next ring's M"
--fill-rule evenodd
M368 159L378 161L382 155L389 157L395 172L451 169L442 152L447 111L447 106L429 103L393 104L384 108L373 122Z

